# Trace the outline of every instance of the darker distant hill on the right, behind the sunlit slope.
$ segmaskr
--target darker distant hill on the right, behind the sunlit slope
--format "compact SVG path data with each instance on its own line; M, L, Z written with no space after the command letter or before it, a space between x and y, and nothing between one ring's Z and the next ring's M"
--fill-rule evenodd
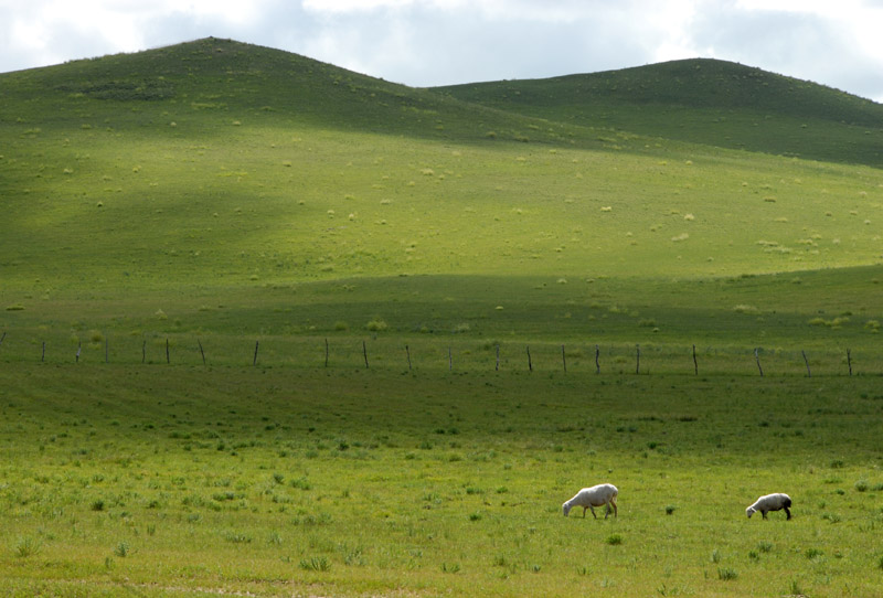
M813 160L883 165L883 106L717 60L439 87L561 122Z

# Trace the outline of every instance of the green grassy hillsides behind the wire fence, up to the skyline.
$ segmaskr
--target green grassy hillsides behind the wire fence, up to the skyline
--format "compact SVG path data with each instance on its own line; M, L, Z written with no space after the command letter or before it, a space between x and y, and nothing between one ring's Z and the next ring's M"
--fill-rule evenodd
M883 318L881 107L738 65L413 89L209 39L4 74L0 99L0 324L61 343L360 334L376 318L402 334L585 338L597 310L640 314L609 329L623 339L680 342L714 320L757 342L740 306L788 311L781 337L854 312L847 328L870 339ZM712 142L694 120L712 114L754 151ZM683 286L703 280L760 290ZM658 284L666 305L646 292Z

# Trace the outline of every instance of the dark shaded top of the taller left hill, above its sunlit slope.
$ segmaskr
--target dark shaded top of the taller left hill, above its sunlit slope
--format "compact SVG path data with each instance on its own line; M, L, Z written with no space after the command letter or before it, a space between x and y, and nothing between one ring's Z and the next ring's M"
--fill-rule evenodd
M430 139L480 139L489 130L553 137L549 127L540 131L533 118L230 40L204 39L2 77L7 122L65 127L97 117L110 126L143 129L160 121L203 127L247 118L274 127L297 124Z

